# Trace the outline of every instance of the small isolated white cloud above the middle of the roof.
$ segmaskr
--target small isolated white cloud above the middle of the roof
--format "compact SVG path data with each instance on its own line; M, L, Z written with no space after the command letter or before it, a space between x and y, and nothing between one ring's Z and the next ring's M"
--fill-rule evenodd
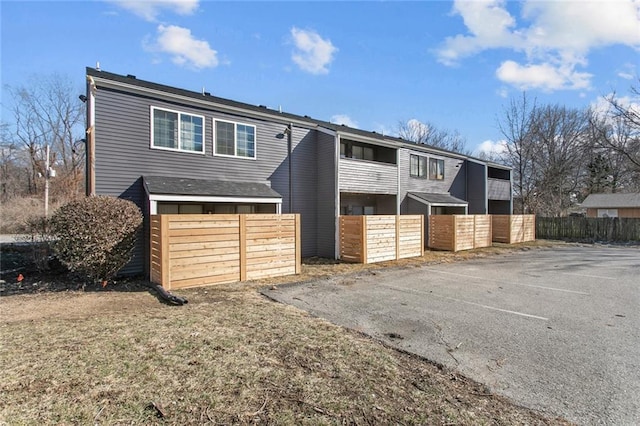
M323 39L315 31L291 28L291 36L296 50L291 59L300 69L311 74L327 74L329 64L333 61L333 55L338 51L331 40Z

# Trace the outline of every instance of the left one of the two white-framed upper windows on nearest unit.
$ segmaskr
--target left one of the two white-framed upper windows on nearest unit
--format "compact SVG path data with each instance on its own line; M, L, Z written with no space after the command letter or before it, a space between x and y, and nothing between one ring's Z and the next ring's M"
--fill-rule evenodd
M204 117L151 107L151 147L204 154Z

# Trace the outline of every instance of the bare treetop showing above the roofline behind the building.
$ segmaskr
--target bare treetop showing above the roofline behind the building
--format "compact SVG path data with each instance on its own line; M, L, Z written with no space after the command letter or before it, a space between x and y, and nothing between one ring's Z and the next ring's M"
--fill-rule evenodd
M415 119L398 123L398 136L402 139L430 145L451 152L470 154L466 148L466 141L457 131L440 129L429 122Z

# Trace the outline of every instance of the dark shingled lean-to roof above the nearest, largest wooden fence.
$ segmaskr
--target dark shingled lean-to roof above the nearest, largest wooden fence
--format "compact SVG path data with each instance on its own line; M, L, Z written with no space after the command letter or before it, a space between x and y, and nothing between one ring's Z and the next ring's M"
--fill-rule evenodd
M282 198L269 185L259 182L187 179L168 176L143 176L142 180L148 194Z

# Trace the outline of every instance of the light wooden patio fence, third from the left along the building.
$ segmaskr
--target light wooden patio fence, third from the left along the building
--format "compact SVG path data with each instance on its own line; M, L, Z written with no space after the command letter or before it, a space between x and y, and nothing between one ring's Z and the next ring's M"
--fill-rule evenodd
M491 246L491 216L429 216L429 248L437 250L470 250Z

